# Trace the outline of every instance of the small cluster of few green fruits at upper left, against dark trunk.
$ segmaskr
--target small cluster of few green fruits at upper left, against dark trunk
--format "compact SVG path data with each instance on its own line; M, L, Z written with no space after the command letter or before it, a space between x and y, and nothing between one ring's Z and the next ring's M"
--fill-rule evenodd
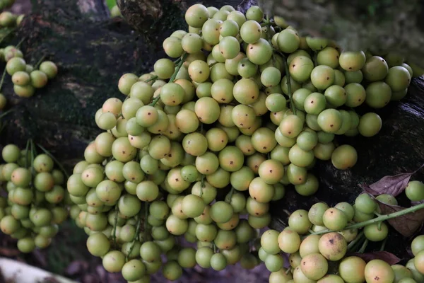
M30 98L37 88L45 87L49 79L57 76L56 64L44 61L33 67L25 62L23 53L12 45L0 49L0 59L6 61L5 71L11 76L13 91L23 98ZM0 96L4 97L2 94Z

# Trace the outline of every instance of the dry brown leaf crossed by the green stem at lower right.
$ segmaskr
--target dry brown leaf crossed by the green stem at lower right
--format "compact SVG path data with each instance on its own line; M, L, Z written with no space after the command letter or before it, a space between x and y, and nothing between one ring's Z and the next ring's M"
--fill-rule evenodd
M385 204L383 202L379 202L378 200L377 203L382 211L382 214L391 214L406 209L406 207ZM396 231L401 233L403 236L410 237L413 235L413 233L420 229L421 226L423 226L424 208L419 209L416 212L411 212L392 219L388 219L387 221L394 229L396 229Z

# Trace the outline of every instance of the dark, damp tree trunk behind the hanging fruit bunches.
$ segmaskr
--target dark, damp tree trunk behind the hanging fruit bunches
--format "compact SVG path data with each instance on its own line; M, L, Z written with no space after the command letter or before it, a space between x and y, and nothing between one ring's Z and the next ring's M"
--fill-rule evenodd
M3 92L13 112L3 119L6 128L0 134L0 144L25 146L27 139L33 138L71 168L82 158L88 142L101 132L94 121L96 110L107 98L124 99L117 88L119 77L151 71L155 59L165 56L158 42L173 30L185 28L182 7L192 4L190 1L151 2L162 5L162 10L150 30L146 27L151 19L139 22L138 30L146 30L147 35L142 38L122 19L108 18L101 0L33 1L33 14L25 18L12 43L25 38L20 48L27 62L35 64L46 56L57 62L59 76L37 90L33 98L14 95L11 78L6 76ZM220 0L210 3L223 4ZM235 5L232 0L225 4ZM252 2L243 4L246 8ZM353 202L361 192L359 184L418 168L424 161L423 105L424 79L413 79L404 100L376 111L383 120L377 136L337 137L339 144L352 144L358 150L356 166L338 171L331 162L318 162L314 170L319 175L319 192L314 197L300 197L288 186L283 200L272 206L273 228L283 229L286 211L309 209L318 201ZM358 112L369 110L363 107ZM414 177L423 180L424 175ZM406 257L406 240L396 233L390 237L396 242L387 248Z

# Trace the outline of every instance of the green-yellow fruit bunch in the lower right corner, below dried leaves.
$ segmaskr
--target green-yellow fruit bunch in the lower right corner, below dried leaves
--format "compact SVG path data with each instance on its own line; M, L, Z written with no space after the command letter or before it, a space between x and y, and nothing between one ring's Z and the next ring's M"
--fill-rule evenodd
M424 184L419 181L410 182L408 187L417 184L423 194ZM392 195L378 195L374 200L365 193L359 195L353 205L340 202L329 207L318 202L309 211L298 209L290 214L283 231L265 231L261 235L259 258L271 271L269 282L423 282L423 235L412 241L415 258L409 260L406 267L389 265L379 259L365 262L359 255L347 255L348 252L364 253L368 241L380 242L387 238L387 224L375 219L375 215L379 215L376 200L397 205ZM424 195L420 200L424 200ZM281 251L290 254L289 270L283 268Z

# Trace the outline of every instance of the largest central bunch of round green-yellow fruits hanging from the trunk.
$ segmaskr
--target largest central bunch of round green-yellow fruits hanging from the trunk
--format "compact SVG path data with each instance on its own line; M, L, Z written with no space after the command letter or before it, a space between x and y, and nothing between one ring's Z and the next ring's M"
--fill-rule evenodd
M317 159L354 166L355 149L336 147L334 138L377 134L379 115L354 109L403 98L413 75L391 54L341 52L329 40L301 37L258 6L243 14L195 4L185 20L188 32L163 42L175 61L119 79L126 99L109 98L95 113L105 132L67 183L88 250L128 282L149 282L160 267L175 280L195 265L258 265L254 242L271 221L270 203L286 185L313 195L318 180L308 169ZM294 237L285 242L293 249ZM282 266L271 258L267 266Z

